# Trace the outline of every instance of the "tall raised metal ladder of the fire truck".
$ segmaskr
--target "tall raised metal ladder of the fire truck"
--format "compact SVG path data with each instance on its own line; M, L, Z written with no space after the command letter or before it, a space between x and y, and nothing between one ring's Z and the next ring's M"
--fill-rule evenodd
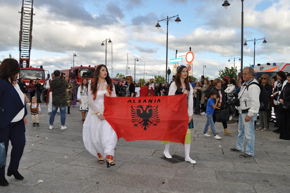
M29 67L30 50L32 42L32 17L33 15L33 0L23 0L19 31L19 64L23 67Z

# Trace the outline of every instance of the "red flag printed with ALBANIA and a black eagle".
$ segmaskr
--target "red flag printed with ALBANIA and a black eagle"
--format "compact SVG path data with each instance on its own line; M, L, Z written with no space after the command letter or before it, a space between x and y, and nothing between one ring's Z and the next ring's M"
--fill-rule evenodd
M185 94L152 97L105 97L104 117L118 139L163 140L184 144L188 127Z

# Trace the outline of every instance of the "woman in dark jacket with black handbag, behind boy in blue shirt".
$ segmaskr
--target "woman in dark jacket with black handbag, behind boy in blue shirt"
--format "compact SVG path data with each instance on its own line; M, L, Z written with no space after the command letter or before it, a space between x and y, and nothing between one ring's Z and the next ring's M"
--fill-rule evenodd
M218 103L218 107L223 109L223 107L226 105L226 101L227 101L227 97L225 95L224 90L221 88L222 85L222 81L219 78L215 78L215 80L213 81L213 90L215 90L218 94L217 94L217 98L220 99L220 102ZM216 100L214 100L216 102ZM215 118L215 112L217 110L215 109L215 111L213 112L213 123L215 123L216 118ZM228 134L232 134L233 132L228 130L228 125L226 123L226 121L222 122L222 126L224 126L224 135L228 135ZM211 133L211 131L210 131Z

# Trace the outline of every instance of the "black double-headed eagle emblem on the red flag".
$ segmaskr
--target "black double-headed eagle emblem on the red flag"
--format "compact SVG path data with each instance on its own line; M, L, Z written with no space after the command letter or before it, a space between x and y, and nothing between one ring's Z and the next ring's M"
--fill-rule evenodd
M158 117L158 106L142 105L131 106L131 117L134 127L140 126L144 131L150 126L157 126L160 122Z

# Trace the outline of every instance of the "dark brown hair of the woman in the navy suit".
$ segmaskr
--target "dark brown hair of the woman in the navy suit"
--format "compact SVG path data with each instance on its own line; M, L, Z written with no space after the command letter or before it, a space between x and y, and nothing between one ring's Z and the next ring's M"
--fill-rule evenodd
M3 60L3 62L0 65L0 79L7 79L10 78L11 85L14 86L13 81L16 82L15 75L18 74L20 71L20 66L17 60L13 58L6 58Z

